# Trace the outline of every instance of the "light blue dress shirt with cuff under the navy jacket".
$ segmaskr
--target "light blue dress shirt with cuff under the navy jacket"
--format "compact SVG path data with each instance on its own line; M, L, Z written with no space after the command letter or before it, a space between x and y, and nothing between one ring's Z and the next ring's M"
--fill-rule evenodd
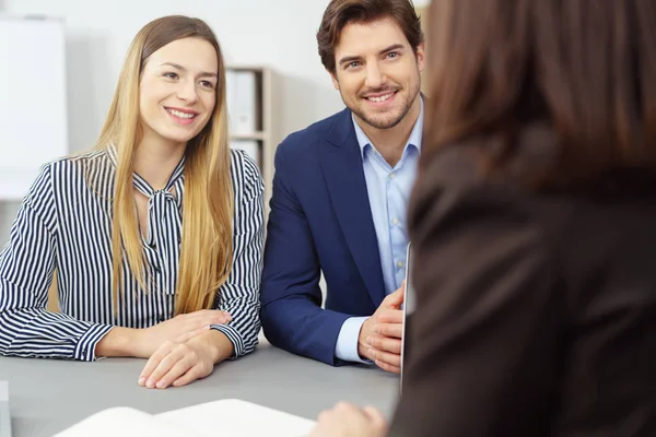
M398 290L406 279L406 251L409 243L406 215L421 152L423 101L401 160L394 168L376 151L354 118L353 126L362 151L362 165L378 240L385 293L388 295ZM351 317L344 321L335 346L336 357L347 362L368 363L358 354L358 336L362 323L367 318Z

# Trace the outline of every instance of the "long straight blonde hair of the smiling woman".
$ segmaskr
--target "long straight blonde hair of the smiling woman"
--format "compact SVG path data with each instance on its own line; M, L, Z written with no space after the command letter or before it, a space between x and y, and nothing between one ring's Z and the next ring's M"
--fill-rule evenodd
M133 200L133 161L142 135L139 80L144 62L163 46L181 38L207 40L219 61L216 103L203 130L185 152L185 203L175 314L211 308L216 291L227 280L232 263L233 187L230 178L225 68L212 29L201 20L172 15L147 24L134 37L118 80L107 119L96 144L117 151L113 203L113 302L116 310L122 260L144 291L144 251ZM178 193L180 196L180 193Z

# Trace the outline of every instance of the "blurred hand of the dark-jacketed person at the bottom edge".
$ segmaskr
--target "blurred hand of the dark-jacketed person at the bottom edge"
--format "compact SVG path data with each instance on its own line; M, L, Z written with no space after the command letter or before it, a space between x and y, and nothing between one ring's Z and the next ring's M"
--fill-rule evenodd
M319 414L309 437L383 437L386 434L387 421L378 410L340 402Z

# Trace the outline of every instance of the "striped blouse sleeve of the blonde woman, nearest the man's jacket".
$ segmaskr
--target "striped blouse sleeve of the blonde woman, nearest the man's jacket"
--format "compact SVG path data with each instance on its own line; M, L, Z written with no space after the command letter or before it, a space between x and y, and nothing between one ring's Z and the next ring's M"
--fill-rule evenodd
M259 287L263 250L263 190L257 164L242 152L232 161L235 193L233 228L233 262L225 284L219 291L218 309L229 311L233 320L226 324L212 324L233 343L235 354L231 359L246 355L258 344L260 329ZM241 179L241 180L235 180Z

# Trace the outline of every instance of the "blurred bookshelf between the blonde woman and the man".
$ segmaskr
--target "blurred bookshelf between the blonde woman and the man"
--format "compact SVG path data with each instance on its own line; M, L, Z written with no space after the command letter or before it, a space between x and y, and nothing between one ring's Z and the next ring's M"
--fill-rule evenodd
M265 180L265 216L273 184L276 147L284 139L281 123L281 75L265 66L227 66L226 94L231 147L258 163Z

